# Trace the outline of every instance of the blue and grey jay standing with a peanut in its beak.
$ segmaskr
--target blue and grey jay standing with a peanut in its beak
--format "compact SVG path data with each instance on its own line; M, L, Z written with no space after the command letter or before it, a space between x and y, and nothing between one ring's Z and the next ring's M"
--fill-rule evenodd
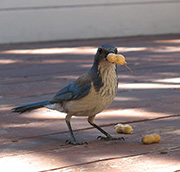
M107 59L110 53L117 54L117 47L112 44L101 45L87 73L62 88L52 99L21 105L13 108L12 112L24 113L42 107L65 112L70 132L67 143L72 145L87 143L76 140L71 127L72 116L87 116L89 124L104 134L98 137L100 140L124 140L123 137L112 137L94 122L95 116L111 104L118 89L117 64Z

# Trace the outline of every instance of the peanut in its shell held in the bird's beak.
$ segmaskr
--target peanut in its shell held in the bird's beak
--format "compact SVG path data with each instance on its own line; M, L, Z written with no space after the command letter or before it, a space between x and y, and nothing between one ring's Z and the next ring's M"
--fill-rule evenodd
M109 53L107 55L107 60L118 65L123 65L126 63L125 57L122 54Z

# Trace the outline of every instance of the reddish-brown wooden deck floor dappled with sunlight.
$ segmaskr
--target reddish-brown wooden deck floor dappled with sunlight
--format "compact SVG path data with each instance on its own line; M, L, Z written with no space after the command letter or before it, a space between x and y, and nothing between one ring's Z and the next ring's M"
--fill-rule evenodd
M124 54L132 74L118 67L119 90L96 123L125 141L100 141L86 118L73 118L72 146L65 114L45 108L11 113L17 105L48 100L86 72L97 47L111 43ZM180 35L159 35L0 46L0 171L180 171ZM116 123L132 125L117 134ZM145 134L160 143L143 145Z

